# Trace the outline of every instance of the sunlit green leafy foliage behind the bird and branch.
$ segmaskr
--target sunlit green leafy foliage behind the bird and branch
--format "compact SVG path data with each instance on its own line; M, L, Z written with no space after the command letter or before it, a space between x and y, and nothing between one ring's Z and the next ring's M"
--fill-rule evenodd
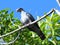
M9 33L19 26L21 22L14 18L14 12L8 12L7 9L0 11L0 35ZM41 40L39 36L24 28L20 32L19 38L11 45L59 45L60 44L60 15L52 13L50 16L38 22L39 27L46 36L45 40ZM3 37L5 42L14 40L18 32ZM59 39L58 39L59 38Z

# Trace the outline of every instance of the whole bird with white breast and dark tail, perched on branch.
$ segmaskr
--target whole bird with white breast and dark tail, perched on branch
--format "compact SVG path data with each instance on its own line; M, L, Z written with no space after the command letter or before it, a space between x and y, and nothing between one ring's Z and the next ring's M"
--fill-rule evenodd
M17 12L20 12L21 13L21 23L23 25L26 25L30 22L33 22L35 21L34 17L28 13L28 12L25 12L23 10L23 8L18 8L17 9ZM46 37L45 35L42 33L41 29L39 28L38 24L37 23L34 23L32 25L29 25L27 27L30 31L33 31L35 33L37 33L37 35L41 38L41 40L44 40Z

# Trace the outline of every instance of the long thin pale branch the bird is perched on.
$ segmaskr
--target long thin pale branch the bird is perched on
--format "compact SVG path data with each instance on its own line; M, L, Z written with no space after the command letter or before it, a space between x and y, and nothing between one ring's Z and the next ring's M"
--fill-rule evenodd
M10 32L10 33L6 33L6 34L4 34L4 35L1 35L0 38L2 38L2 37L4 37L4 36L7 36L7 35L10 35L10 34L12 34L12 33L14 33L14 32L17 32L17 31L19 31L19 30L21 30L21 29L23 29L23 28L25 28L25 27L27 27L27 26L29 26L29 25L32 25L32 24L34 24L34 23L42 20L43 18L47 17L48 15L50 15L50 14L51 14L52 12L54 12L54 11L55 11L54 9L51 9L46 15L42 16L41 18L39 18L39 19L37 19L37 20L29 23L29 24L26 24L26 25L24 25L24 26L22 26L22 27L19 27L18 29L14 30L14 31L12 31L12 32Z

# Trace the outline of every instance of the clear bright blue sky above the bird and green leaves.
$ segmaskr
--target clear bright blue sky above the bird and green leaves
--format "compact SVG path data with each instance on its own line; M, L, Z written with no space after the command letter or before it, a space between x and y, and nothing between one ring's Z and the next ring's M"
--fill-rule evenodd
M4 8L13 10L14 17L18 19L20 19L20 13L16 12L17 8L30 12L35 19L37 16L43 16L44 12L48 12L52 8L60 10L56 0L0 0L0 10Z

